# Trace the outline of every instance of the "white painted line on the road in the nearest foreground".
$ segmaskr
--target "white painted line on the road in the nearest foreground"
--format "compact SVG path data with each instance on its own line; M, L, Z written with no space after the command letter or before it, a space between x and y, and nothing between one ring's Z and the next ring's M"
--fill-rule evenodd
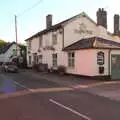
M81 118L84 118L85 120L92 120L91 118L87 117L86 115L83 115L83 114L77 112L76 110L73 110L73 109L71 109L71 108L69 108L69 107L67 107L67 106L65 106L65 105L63 105L63 104L61 104L61 103L53 100L53 99L49 99L49 101L50 101L51 103L54 103L54 104L58 105L59 107L62 107L62 108L64 108L64 109L66 109L66 110L68 110L68 111L70 111L70 112L78 115L78 116L81 117Z

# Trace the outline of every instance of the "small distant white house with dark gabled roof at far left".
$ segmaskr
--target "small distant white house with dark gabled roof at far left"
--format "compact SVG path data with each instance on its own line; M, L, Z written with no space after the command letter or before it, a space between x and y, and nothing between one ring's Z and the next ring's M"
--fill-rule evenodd
M23 46L18 45L15 42L7 43L6 45L0 47L0 63L11 62L14 58L20 57L22 49Z

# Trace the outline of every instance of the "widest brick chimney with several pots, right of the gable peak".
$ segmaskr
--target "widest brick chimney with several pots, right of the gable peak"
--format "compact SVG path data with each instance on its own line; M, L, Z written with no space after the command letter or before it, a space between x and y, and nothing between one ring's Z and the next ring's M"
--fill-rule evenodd
M101 25L107 29L107 12L102 8L97 11L97 25Z

